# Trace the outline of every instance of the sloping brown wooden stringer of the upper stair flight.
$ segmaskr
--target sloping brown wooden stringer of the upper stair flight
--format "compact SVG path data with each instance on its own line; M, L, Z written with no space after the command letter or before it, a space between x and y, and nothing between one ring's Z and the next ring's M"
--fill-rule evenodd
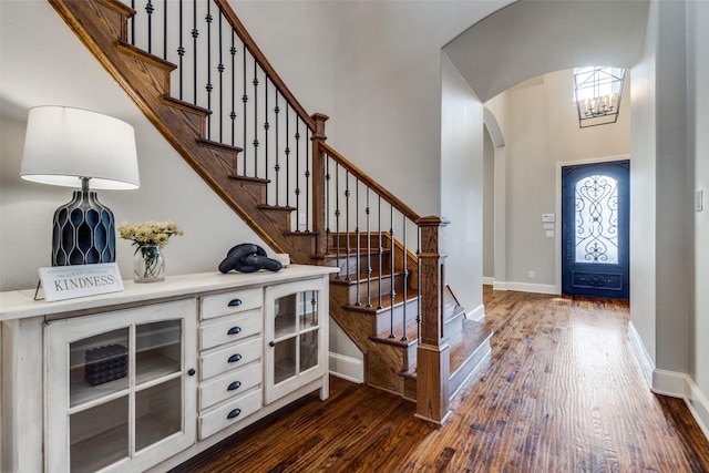
M127 20L134 14L131 8L116 0L50 0L50 3L155 128L268 246L276 253L290 254L294 263L311 263L310 239L315 234L310 238L290 238L287 227L281 226L282 217L259 208L264 204L259 200L263 191L256 187L264 184L234 179L235 164L226 157L229 151L205 143L209 112L166 99L174 64L125 42ZM238 151L234 148L232 153Z

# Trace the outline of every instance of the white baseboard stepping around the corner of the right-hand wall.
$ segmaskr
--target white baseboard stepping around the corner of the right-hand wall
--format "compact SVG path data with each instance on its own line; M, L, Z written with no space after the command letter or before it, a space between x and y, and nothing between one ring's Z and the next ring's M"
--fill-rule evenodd
M709 440L709 401L689 374L659 370L650 358L633 321L628 323L628 336L650 390L660 395L680 398L689 408L705 436Z

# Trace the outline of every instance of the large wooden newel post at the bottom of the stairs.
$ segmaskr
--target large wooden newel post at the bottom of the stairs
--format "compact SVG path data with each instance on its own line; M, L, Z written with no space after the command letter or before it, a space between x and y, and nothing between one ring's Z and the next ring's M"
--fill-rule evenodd
M417 351L417 417L442 424L449 414L450 347L443 338L444 259L441 230L449 224L440 217L423 217L419 282L421 287L421 342Z

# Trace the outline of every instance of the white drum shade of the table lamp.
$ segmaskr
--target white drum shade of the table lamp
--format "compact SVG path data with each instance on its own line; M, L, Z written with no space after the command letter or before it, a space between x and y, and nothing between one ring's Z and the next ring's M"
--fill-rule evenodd
M133 126L85 110L31 109L20 177L66 187L81 187L81 177L89 177L93 189L137 188Z

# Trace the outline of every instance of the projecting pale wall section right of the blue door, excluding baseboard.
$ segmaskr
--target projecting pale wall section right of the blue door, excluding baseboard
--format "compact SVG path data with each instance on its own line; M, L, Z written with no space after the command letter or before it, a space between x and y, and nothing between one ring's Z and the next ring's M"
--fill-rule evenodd
M646 371L680 373L689 370L692 194L687 185L686 56L677 54L686 44L685 22L682 2L651 2L645 54L634 69L633 116L638 120L630 183L633 329L653 364ZM675 389L658 388L657 371L655 378L657 389Z

